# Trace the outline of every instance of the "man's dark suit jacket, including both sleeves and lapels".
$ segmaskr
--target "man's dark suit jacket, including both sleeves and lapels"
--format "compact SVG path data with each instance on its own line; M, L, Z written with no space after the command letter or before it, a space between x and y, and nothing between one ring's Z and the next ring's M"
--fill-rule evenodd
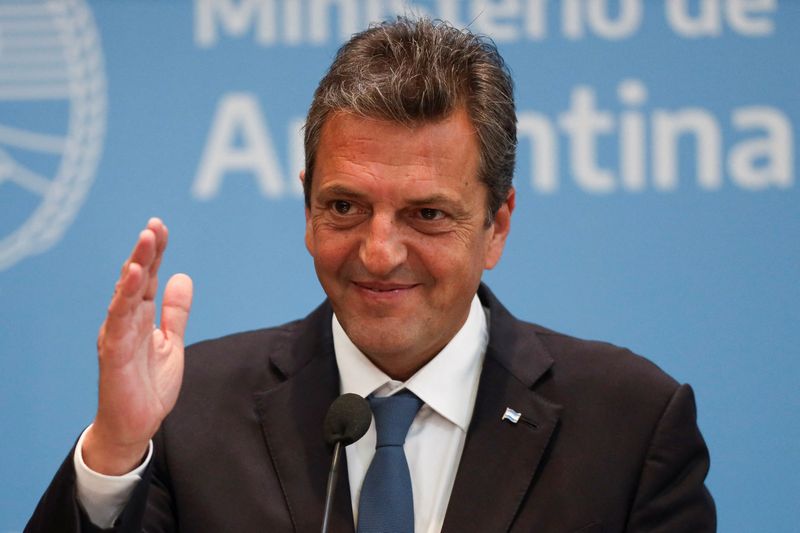
M489 346L443 531L706 532L691 389L627 350L518 321L486 287ZM120 531L319 531L339 394L331 308L188 350L178 403ZM501 420L506 407L522 413ZM342 468L332 530L352 532ZM26 531L93 531L68 457Z

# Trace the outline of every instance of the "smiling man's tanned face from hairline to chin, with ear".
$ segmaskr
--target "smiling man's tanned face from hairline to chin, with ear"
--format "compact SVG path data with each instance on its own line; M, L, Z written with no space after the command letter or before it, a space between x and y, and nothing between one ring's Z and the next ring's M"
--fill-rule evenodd
M337 113L322 128L306 246L342 327L393 378L450 341L500 259L513 190L487 227L478 154L463 110L414 127Z

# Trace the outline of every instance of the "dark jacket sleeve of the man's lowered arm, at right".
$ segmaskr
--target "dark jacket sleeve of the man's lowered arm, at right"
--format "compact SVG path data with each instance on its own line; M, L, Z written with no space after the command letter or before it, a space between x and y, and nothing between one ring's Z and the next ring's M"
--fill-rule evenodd
M697 427L694 393L678 387L661 415L642 466L628 532L716 531L714 500L704 484L708 448Z

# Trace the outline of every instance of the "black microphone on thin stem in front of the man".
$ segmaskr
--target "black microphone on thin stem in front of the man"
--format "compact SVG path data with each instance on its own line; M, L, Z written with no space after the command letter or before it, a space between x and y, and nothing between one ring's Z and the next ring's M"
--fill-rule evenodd
M372 410L369 402L359 396L348 392L336 398L328 408L325 422L322 424L325 442L333 445L333 461L328 472L328 487L325 490L325 514L322 516L322 533L328 531L331 508L333 506L333 492L336 488L336 478L339 474L339 456L342 445L352 444L369 429L372 423Z

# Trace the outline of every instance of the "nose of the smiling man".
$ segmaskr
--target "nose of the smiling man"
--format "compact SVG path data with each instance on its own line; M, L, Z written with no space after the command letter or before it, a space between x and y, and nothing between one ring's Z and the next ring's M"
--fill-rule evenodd
M406 246L400 228L389 214L375 214L366 225L366 235L359 248L359 258L370 275L386 277L405 263Z

